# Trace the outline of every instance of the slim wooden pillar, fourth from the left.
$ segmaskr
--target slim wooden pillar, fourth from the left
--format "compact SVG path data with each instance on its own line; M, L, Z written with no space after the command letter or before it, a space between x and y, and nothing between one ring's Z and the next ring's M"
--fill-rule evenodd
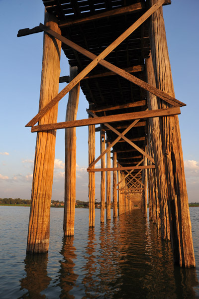
M105 150L105 130L104 126L100 125L100 153ZM105 168L105 155L101 157L101 168ZM101 171L101 185L100 185L100 222L104 223L104 207L105 207L105 171Z

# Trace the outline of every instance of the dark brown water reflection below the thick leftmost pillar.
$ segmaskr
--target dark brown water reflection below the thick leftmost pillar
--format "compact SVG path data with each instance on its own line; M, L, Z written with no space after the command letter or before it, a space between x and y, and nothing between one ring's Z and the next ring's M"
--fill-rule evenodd
M47 275L48 254L42 255L26 255L24 260L26 277L23 278L21 283L21 289L26 289L28 294L24 298L44 298L44 295L40 295L44 291L51 278Z

